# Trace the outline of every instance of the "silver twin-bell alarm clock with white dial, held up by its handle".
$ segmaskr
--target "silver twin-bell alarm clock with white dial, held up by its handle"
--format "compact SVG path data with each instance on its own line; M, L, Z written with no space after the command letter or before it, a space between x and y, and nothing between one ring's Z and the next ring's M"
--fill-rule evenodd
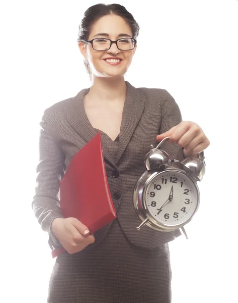
M183 161L170 159L166 151L159 149L170 137L164 138L155 148L151 145L145 156L146 171L138 179L133 193L135 211L142 226L157 231L180 229L188 238L184 225L197 212L200 192L197 185L205 173L203 151L198 158Z

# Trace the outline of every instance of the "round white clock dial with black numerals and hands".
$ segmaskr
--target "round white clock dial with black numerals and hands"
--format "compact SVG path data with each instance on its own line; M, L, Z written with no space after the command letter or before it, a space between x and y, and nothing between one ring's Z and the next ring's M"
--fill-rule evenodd
M178 171L157 174L145 192L151 217L165 226L185 223L195 213L198 191L193 181Z

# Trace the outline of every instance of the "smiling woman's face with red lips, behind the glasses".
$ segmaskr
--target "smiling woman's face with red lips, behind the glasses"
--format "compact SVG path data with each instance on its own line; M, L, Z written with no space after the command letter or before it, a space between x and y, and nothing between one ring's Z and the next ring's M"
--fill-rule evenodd
M122 35L123 34L123 35ZM131 28L120 16L107 15L96 21L90 31L89 40L94 38L108 38L113 41L120 38L132 38ZM85 47L86 46L86 47ZM95 51L90 43L78 42L78 47L85 58L88 59L92 76L96 77L122 77L128 70L135 48L131 51L120 51L116 43L112 43L108 51ZM112 65L106 58L120 58L120 64Z

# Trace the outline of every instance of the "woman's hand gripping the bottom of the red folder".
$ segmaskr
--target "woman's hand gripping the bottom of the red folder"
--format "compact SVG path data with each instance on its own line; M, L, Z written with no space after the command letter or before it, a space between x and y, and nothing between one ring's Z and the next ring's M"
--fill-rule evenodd
M55 218L51 229L69 254L75 254L95 241L87 226L76 218Z

